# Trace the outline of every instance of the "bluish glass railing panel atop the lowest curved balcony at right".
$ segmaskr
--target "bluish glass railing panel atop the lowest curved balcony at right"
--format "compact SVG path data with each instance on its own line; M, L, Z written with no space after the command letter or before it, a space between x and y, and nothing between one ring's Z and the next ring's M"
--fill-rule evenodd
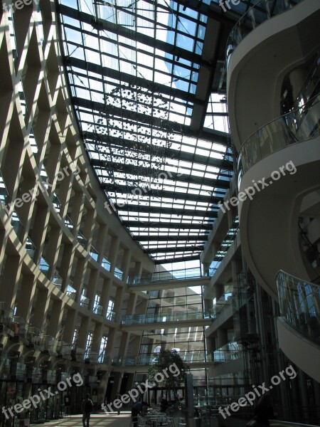
M280 314L295 330L320 344L320 286L277 274Z

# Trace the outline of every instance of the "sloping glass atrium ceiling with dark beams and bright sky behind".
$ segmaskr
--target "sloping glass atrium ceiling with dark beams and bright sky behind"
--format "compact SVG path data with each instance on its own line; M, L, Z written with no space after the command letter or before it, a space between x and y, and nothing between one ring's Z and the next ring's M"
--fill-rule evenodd
M70 92L108 210L157 263L199 258L233 174L209 19L181 3L59 1Z

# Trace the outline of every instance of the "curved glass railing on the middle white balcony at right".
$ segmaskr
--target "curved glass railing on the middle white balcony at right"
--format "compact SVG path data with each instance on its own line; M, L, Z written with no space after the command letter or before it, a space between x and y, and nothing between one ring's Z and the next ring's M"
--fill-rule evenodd
M278 117L261 127L242 144L238 157L239 184L243 174L269 154L286 148L290 144L319 137L319 101L320 95L316 95L298 110Z

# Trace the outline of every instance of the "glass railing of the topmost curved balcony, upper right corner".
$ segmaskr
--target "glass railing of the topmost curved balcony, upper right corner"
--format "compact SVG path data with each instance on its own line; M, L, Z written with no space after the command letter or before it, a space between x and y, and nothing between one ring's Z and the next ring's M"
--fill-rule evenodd
M279 15L293 6L300 3L302 0L260 0L252 6L247 12L241 16L239 21L233 27L227 41L227 48L225 53L225 66L228 68L230 56L240 42L251 33L252 30L260 26L262 22L267 21L273 16Z

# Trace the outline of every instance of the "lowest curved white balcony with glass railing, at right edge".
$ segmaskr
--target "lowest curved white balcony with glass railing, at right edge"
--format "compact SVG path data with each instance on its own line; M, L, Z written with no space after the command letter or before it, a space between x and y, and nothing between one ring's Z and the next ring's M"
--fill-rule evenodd
M320 286L280 270L277 274L280 315L279 347L294 364L320 381ZM316 366L315 366L316 365Z

